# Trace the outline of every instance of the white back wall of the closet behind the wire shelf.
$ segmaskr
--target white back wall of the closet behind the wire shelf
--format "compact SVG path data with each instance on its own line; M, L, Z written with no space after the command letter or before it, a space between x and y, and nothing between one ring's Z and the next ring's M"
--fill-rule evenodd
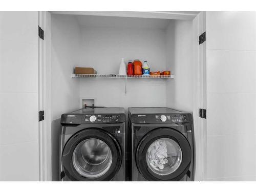
M93 67L98 74L118 74L124 57L147 60L152 71L166 65L165 31L162 29L100 28L81 29L82 67ZM80 79L80 97L95 99L100 106L165 106L164 80L128 79L124 94L123 79Z

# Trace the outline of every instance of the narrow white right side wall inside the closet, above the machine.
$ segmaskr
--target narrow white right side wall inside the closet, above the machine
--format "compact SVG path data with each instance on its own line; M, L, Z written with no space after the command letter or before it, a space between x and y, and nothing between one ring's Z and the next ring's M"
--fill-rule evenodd
M166 31L166 68L175 74L167 81L170 108L193 112L193 28L189 20L173 20Z

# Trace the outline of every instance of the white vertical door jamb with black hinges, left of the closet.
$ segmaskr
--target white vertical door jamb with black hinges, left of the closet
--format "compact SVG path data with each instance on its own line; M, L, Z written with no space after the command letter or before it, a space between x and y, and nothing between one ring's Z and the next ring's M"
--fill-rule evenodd
M38 26L44 30L39 39L39 111L45 111L45 120L39 121L39 181L52 180L51 160L51 15L38 11Z

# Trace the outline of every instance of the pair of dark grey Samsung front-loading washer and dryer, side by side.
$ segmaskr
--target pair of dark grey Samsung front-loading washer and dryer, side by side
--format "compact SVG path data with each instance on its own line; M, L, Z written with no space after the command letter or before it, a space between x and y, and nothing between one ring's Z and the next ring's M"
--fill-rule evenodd
M61 115L60 180L192 181L193 121L169 108L84 108Z

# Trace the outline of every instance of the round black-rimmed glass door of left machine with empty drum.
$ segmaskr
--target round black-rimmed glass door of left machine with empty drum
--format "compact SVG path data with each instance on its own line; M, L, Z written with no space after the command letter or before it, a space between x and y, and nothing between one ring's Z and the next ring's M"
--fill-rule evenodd
M110 181L121 162L122 151L117 140L96 128L73 135L62 152L65 175L74 181Z

